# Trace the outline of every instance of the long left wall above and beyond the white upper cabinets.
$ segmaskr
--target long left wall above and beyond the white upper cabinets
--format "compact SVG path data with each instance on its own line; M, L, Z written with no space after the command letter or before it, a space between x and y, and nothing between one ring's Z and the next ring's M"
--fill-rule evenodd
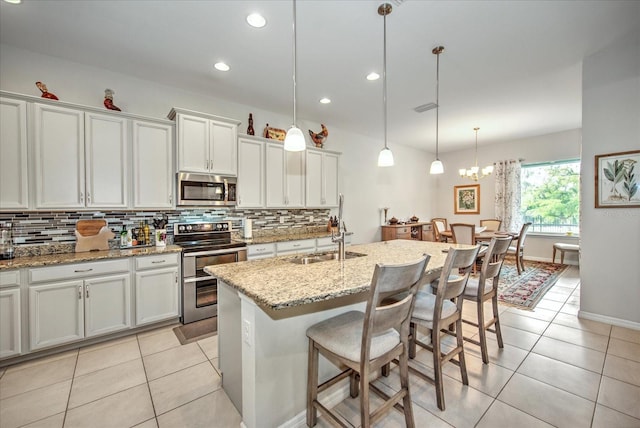
M179 80L176 76L176 81ZM247 118L253 113L256 133L266 123L287 128L291 117L256 109L251 106L215 98L207 94L192 93L152 81L140 80L111 71L73 63L59 58L35 54L11 46L0 45L0 89L30 95L39 95L36 81L42 81L50 92L60 99L90 106L102 107L104 89L115 91L114 104L123 111L149 117L165 118L172 107L231 117L242 121L240 132L246 131ZM380 101L382 104L382 100ZM317 121L301 118L298 126L319 130ZM381 117L373 117L372 121ZM340 189L345 195L344 219L349 231L354 232L353 243L380 240L380 208L390 207L390 216L407 218L417 215L430 218L433 186L426 173L429 154L389 142L396 157L396 166L378 168L378 152L382 138L373 140L357 133L344 131L326 123L329 138L325 148L343 153L340 164ZM308 137L307 137L308 138ZM311 145L311 142L308 141ZM337 210L332 210L335 215Z

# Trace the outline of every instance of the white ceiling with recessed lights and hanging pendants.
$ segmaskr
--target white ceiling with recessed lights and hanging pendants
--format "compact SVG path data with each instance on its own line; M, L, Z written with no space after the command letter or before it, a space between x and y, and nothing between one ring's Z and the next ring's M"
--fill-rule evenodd
M365 79L382 74L381 3L298 0L299 119L382 140L382 79ZM581 127L583 58L640 25L638 1L390 3L392 149L435 151L435 110L413 111L436 100L433 47L445 47L439 141L447 152L473 146L476 126L479 145ZM3 44L292 115L291 1L23 0L0 2L0 12ZM251 12L267 26L247 25ZM229 72L213 69L221 60Z

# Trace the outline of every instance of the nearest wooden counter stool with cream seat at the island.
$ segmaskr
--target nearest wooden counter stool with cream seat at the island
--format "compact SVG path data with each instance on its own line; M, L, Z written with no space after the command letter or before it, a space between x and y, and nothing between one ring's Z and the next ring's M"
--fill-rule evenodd
M307 330L309 361L307 376L307 425L317 422L317 411L340 426L351 426L337 413L320 403L318 394L336 382L350 378L350 394L360 395L361 426L369 427L402 401L405 423L414 427L409 393L409 323L418 287L422 285L430 256L413 263L377 264L366 311L349 311L312 325ZM318 384L318 356L322 354L343 371ZM400 390L392 397L370 383L370 376L382 366L398 360ZM375 411L369 409L369 390L386 401Z

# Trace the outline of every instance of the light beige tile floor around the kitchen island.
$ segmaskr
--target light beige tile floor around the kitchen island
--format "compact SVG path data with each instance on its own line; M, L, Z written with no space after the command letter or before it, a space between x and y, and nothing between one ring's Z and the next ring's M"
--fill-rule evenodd
M501 306L505 348L489 335L484 365L465 343L469 386L445 365L445 411L433 387L412 377L416 426L640 427L640 331L578 319L579 293L571 267L534 311ZM465 317L474 316L465 303ZM217 336L181 346L165 327L0 369L0 427L238 427L217 352ZM416 359L432 367L427 351ZM377 383L397 388L396 370ZM357 425L357 399L336 408ZM377 426L404 419L392 411Z

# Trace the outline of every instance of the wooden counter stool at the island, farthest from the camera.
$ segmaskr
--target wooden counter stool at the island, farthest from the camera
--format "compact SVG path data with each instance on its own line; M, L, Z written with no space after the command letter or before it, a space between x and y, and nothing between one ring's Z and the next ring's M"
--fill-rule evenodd
M513 237L492 238L489 248L482 263L479 278L469 278L467 287L462 295L463 300L476 302L478 320L477 322L462 319L462 322L478 327L479 340L465 337L464 340L480 346L482 362L489 364L489 352L487 351L487 331L495 333L498 340L498 348L504 348L502 343L502 332L500 331L500 317L498 314L498 281L504 257L507 254L509 245ZM484 302L491 300L493 317L485 321ZM493 329L492 326L495 326Z

